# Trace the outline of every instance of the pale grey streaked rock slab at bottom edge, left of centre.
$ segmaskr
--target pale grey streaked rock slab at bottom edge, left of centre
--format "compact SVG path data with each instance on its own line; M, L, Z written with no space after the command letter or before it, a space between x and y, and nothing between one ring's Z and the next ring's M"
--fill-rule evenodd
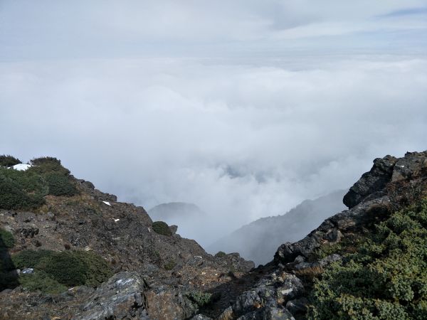
M144 280L136 272L115 274L80 306L73 320L149 319L144 290Z

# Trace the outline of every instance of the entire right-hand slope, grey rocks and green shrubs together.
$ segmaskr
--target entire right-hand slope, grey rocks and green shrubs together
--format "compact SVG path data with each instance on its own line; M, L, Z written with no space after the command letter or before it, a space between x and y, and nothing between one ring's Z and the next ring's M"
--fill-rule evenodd
M427 151L375 159L344 204L349 210L280 245L231 306L211 304L203 313L241 320L427 319Z

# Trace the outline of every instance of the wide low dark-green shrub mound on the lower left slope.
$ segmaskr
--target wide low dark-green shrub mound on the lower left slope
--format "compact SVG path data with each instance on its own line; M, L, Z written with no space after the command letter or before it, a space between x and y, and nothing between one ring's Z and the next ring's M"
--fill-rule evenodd
M110 266L95 252L23 250L13 255L12 260L17 268L32 267L68 287L97 287L112 276Z

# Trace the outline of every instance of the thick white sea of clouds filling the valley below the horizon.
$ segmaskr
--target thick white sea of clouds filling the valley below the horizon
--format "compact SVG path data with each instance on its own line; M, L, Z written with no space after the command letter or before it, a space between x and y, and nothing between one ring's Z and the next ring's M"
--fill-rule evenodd
M426 149L426 74L423 59L3 63L1 149L58 156L146 208L197 203L214 217L206 244L349 186L376 156Z

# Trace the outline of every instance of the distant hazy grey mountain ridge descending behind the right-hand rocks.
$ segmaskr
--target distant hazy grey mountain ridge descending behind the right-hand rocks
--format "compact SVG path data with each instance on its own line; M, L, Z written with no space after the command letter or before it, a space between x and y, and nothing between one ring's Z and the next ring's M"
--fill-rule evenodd
M239 252L255 264L270 262L283 242L304 238L330 215L344 210L342 197L346 192L334 191L315 200L303 201L284 215L255 220L214 242L207 250L212 253L220 250Z

